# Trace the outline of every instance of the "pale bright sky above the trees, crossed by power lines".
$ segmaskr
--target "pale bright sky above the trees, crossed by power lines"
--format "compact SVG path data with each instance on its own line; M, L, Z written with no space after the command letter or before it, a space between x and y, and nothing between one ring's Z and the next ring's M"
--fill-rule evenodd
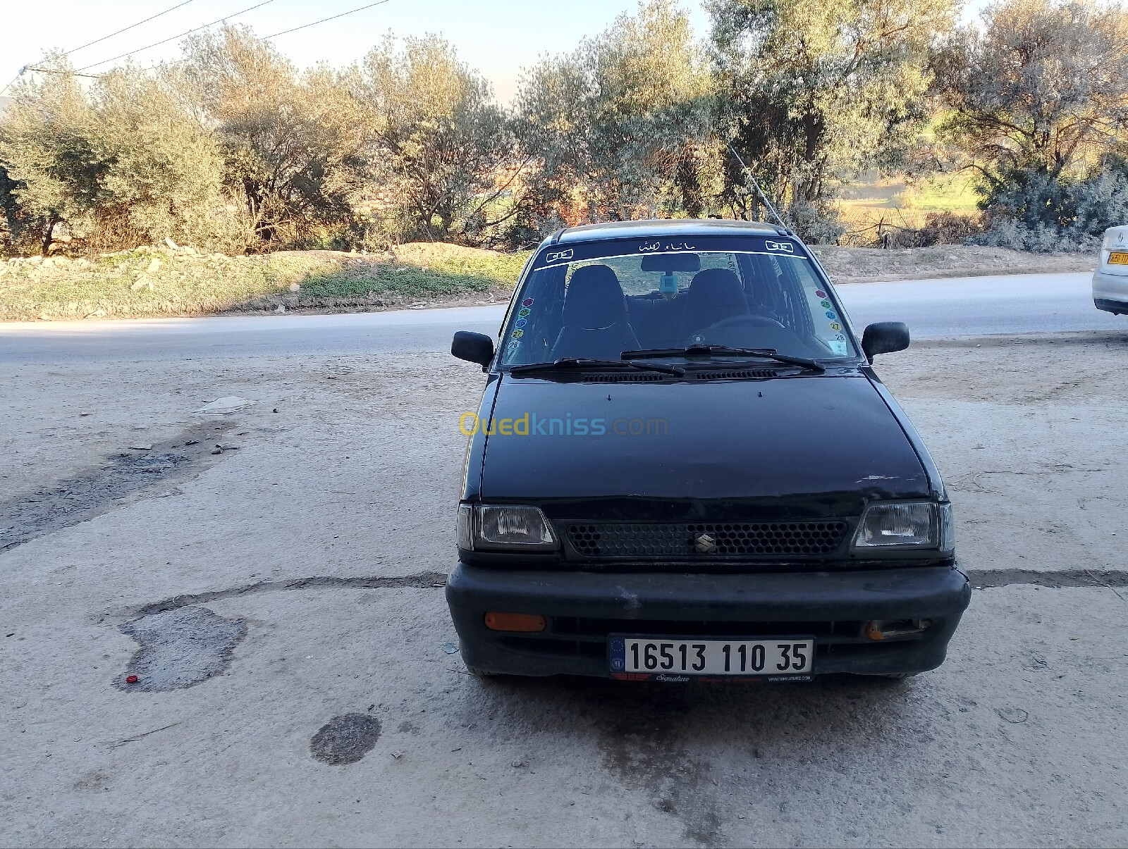
M266 0L245 15L240 10L263 0L0 0L0 87L26 64L52 50L74 51L74 67L89 73L108 70L105 63L132 52L147 65L179 56L179 38L150 50L149 44L217 21L246 24L258 35L271 35L364 6L370 0ZM977 9L986 0L970 0ZM155 20L88 47L81 45L183 3ZM708 32L708 16L697 0L682 0L698 36ZM462 61L494 86L502 103L517 89L520 70L538 56L571 51L581 38L596 35L620 12L633 12L637 0L386 0L354 15L329 20L274 39L301 67L328 61L346 65L362 58L389 30L396 36L437 33L455 45ZM120 60L124 61L124 60ZM99 63L99 64L95 64Z

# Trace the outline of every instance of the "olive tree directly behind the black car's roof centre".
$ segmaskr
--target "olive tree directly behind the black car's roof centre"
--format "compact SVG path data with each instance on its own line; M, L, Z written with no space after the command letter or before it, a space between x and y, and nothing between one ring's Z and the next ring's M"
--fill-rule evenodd
M574 52L527 70L517 110L522 149L538 160L540 218L700 214L711 91L688 17L670 0L640 3Z

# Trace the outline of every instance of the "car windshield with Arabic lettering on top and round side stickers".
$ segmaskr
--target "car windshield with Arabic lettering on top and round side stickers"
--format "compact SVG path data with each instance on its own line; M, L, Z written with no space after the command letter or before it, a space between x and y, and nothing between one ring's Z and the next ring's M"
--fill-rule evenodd
M689 345L855 356L834 294L790 239L643 238L549 246L502 336L503 365Z

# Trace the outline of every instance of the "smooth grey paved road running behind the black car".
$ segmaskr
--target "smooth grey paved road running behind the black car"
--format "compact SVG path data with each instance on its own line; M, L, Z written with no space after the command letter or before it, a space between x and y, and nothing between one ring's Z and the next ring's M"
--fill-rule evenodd
M1092 275L994 277L839 286L861 328L907 321L915 338L1128 329L1128 318L1093 308ZM403 310L336 316L253 316L56 321L0 325L0 360L170 360L446 351L455 330L494 334L502 307Z

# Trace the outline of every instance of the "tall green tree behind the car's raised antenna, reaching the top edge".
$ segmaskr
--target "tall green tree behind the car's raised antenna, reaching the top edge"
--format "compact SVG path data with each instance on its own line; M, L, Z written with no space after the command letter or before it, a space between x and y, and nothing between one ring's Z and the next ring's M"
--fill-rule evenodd
M818 229L835 188L892 167L927 122L929 47L955 0L707 0L719 112L779 207ZM738 168L728 196L755 213ZM817 235L817 233L816 233ZM823 233L829 235L829 231Z

